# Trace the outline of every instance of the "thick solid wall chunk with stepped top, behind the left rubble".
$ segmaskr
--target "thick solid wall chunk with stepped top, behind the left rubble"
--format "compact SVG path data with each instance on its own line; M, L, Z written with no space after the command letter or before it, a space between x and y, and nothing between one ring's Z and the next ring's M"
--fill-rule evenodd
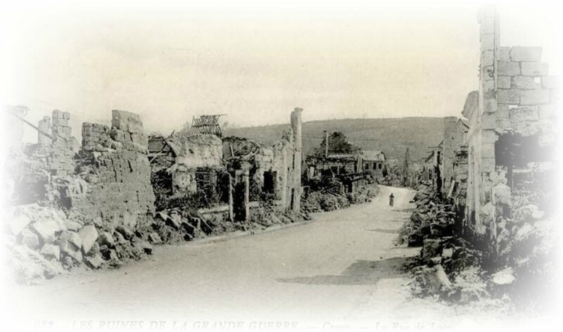
M84 123L78 165L80 178L68 187L72 212L113 228L132 229L154 213L148 138L139 115L112 111L112 126Z

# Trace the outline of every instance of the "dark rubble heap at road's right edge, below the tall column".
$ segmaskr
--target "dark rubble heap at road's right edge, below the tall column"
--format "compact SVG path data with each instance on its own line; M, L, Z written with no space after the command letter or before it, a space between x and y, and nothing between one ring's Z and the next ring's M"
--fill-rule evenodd
M422 247L412 262L412 293L466 304L490 299L490 274L481 269L483 255L455 236L453 205L429 186L420 185L415 210L400 229L398 244Z

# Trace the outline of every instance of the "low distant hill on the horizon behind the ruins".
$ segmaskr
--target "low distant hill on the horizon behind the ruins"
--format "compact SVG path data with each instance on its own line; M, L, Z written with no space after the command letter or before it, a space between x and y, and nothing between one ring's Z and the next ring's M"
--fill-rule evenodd
M281 138L289 125L227 128L226 136L241 136L271 145ZM303 123L303 151L310 153L319 146L323 131L343 132L350 143L367 150L384 151L388 159L403 159L410 147L412 160L423 160L429 146L443 139L443 117L395 117L385 119L343 119Z

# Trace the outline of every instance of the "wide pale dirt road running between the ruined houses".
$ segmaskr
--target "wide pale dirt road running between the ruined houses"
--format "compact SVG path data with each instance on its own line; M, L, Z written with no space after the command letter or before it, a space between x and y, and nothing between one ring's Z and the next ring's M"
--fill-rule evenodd
M18 287L12 318L59 329L447 327L461 319L455 309L410 299L407 275L398 269L417 254L393 245L413 195L381 187L372 203L320 213L308 224L160 247L150 260L122 269ZM443 321L444 314L453 320Z

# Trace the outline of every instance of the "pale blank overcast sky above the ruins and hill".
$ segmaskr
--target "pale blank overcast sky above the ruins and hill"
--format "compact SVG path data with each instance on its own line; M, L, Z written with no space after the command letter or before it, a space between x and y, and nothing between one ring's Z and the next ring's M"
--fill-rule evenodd
M555 2L498 11L501 45L543 46L559 72ZM200 114L286 123L296 106L305 121L460 116L477 89L477 2L280 3L12 7L1 100L32 122L58 108L74 125L107 123L120 109L170 132Z

